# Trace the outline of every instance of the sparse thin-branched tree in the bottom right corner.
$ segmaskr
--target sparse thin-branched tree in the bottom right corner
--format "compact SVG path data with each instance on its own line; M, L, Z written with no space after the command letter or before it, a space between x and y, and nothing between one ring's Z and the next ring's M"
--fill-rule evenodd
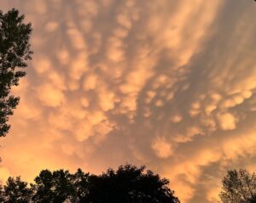
M224 203L256 203L256 175L241 169L231 170L222 180L219 194Z

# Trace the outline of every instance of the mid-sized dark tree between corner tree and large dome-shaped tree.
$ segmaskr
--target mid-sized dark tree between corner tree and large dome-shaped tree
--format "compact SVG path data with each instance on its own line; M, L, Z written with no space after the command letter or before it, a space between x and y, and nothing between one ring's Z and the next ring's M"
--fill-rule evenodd
M58 170L50 172L43 170L35 178L36 184L32 185L34 195L33 202L40 203L62 203L62 202L84 202L88 195L89 173L81 169L74 174L68 171Z

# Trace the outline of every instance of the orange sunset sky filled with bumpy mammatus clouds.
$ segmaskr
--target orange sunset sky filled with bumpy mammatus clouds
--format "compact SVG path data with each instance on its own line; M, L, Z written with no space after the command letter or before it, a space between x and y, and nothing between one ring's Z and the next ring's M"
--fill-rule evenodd
M253 0L1 0L34 54L0 177L146 165L184 203L216 203L227 170L256 171Z

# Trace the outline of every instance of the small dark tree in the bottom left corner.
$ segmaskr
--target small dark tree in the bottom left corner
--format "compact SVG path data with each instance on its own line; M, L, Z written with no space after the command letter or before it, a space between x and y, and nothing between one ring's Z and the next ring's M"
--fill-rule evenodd
M6 185L1 187L0 201L3 203L29 203L31 197L32 189L27 188L20 177L8 178Z

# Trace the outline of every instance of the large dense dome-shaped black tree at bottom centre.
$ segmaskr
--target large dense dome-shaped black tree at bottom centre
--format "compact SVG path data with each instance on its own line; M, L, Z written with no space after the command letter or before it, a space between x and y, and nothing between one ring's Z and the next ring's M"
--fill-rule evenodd
M88 202L93 203L177 203L179 200L161 179L145 166L119 166L117 171L108 169L100 176L90 177Z

